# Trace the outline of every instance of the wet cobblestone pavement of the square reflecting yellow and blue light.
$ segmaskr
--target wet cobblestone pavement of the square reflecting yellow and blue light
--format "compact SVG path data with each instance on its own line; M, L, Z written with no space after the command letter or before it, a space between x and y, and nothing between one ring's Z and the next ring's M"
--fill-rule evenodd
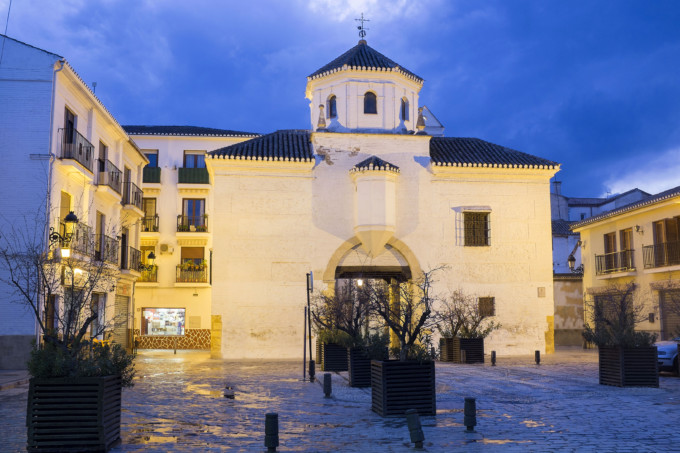
M405 419L370 410L370 389L333 374L333 397L301 382L302 364L227 362L205 353L146 351L123 391L122 443L112 451L263 451L264 414L277 412L280 451L410 451ZM317 375L320 377L321 373ZM225 385L235 399L223 396ZM0 451L24 451L27 385L0 392ZM476 433L463 401L477 398ZM593 351L437 364L437 416L421 419L426 451L680 451L680 378L660 388L598 384Z

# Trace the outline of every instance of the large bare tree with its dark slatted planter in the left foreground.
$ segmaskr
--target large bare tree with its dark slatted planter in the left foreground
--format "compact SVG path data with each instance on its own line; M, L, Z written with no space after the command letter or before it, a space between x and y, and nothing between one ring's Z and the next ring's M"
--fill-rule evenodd
M28 362L27 449L107 450L120 438L121 388L134 376L122 345L96 341L124 321L107 322L101 311L120 270L86 252L64 253L63 236L47 243L30 231L11 227L0 239L0 279L40 332Z

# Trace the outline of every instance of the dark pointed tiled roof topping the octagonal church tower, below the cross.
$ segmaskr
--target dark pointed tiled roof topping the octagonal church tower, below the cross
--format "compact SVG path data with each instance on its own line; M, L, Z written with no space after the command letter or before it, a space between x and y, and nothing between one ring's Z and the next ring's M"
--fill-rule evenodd
M347 52L340 55L335 60L328 63L326 66L314 71L307 78L315 79L326 74L342 71L342 70L374 70L374 71L396 71L410 79L414 79L420 83L423 79L409 71L408 69L398 65L394 61L387 58L377 50L366 44L363 39L359 44L349 49Z

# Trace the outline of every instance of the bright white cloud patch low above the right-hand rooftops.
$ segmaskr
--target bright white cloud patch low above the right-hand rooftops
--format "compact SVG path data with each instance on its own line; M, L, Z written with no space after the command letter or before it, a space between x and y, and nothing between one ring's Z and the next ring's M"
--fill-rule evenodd
M651 152L640 154L615 165L605 180L605 187L611 193L637 187L654 194L680 185L680 146L652 158L644 157L651 155Z

